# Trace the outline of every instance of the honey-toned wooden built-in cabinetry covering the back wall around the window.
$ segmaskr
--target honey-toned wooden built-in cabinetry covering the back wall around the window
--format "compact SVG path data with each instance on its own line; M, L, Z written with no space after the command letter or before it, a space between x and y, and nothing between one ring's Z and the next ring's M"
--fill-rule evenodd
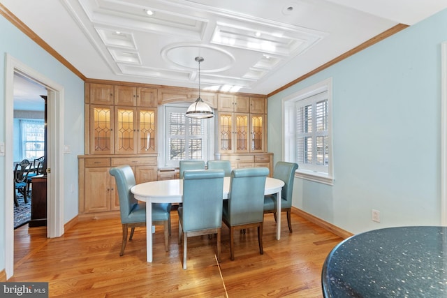
M157 109L166 103L193 103L197 89L89 80L85 84L85 155L79 161L81 218L117 216L119 197L109 171L131 165L138 183L178 179L178 169L157 165ZM216 151L233 168L268 167L267 98L200 91L216 110Z

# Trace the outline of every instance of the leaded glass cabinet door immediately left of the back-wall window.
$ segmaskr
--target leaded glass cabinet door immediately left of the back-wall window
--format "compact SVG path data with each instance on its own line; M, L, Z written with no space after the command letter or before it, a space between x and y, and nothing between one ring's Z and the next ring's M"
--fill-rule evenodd
M138 153L156 153L156 111L138 110Z

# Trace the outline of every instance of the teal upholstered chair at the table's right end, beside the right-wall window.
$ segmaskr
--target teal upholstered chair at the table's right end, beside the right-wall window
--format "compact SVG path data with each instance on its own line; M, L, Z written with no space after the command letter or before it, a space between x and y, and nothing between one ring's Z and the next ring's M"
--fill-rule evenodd
M281 190L281 212L287 212L288 231L292 232L291 223L291 207L292 207L292 193L293 193L293 178L295 177L295 170L298 169L297 163L287 163L285 161L278 161L274 165L273 178L284 181L284 186ZM273 213L274 221L277 220L277 194L265 195L264 198L264 213Z

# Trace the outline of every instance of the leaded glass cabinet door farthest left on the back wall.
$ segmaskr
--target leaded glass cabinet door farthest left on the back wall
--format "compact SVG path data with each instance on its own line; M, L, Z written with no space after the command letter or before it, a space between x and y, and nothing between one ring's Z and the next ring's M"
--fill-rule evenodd
M110 105L90 106L90 153L113 153L113 109Z

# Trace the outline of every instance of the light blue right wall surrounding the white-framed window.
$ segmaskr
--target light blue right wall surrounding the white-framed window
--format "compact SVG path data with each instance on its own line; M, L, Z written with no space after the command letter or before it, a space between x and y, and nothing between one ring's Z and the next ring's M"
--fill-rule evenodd
M281 160L281 99L332 77L333 186L295 179L293 206L352 233L441 224L441 43L447 10L268 99ZM371 220L372 209L381 223Z

